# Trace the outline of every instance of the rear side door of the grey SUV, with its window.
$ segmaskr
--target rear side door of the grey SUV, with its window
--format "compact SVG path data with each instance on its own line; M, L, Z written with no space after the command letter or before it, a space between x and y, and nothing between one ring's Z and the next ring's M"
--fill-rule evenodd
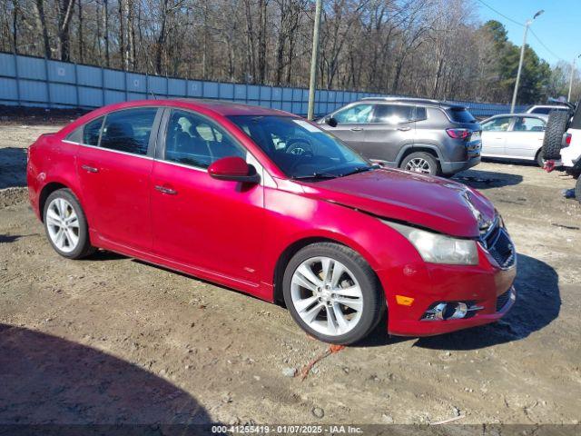
M399 150L414 142L415 112L415 106L409 104L375 104L361 154L374 161L394 163Z

